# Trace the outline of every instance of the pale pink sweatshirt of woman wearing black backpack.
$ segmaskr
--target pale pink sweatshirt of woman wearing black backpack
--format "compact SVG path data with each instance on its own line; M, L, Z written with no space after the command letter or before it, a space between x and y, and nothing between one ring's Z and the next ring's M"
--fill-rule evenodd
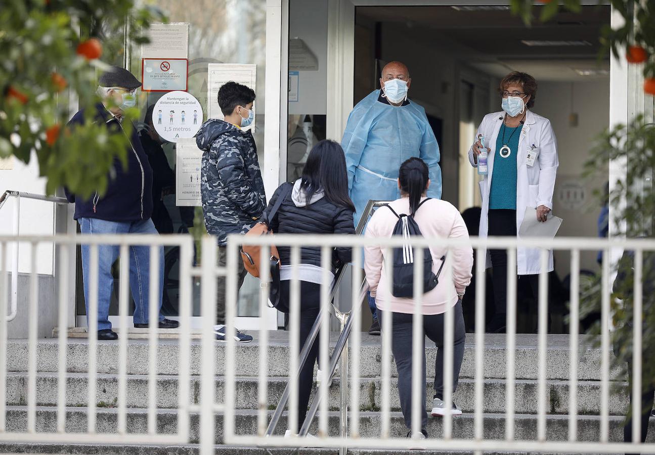
M422 198L423 199L423 198ZM422 200L421 199L421 200ZM389 205L398 213L409 214L409 198L400 198ZM459 211L449 202L430 199L415 213L414 220L425 238L463 238L468 239L468 230ZM398 218L388 209L381 207L373 213L366 227L369 238L390 238ZM430 247L432 254L432 271L436 274L441 266L440 258L446 254L445 247ZM446 282L446 270L453 268L453 281ZM441 270L438 285L423 295L422 314L441 314L447 305L457 303L457 293L464 292L471 282L473 267L473 249L470 246L451 248L446 255L445 265ZM384 271L384 254L380 246L367 246L364 249L364 270L371 296L375 297L377 308L383 311L411 314L414 312L414 300L394 297L386 282Z

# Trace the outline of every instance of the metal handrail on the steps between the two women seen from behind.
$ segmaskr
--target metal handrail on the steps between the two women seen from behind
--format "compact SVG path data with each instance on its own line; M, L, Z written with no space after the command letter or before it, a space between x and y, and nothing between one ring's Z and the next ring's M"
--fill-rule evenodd
M360 218L359 223L357 224L357 228L355 229L355 234L360 235L364 231L364 227L366 226L366 223L373 213L373 209L383 206L386 204L388 201L380 201L380 200L369 200L369 202L366 204L366 207L364 209L364 213L362 214L362 217ZM339 308L336 308L333 300L335 296L337 295L337 291L339 290L339 286L341 285L341 282L343 280L343 276L345 275L346 270L350 268L350 264L345 264L344 266L341 266L338 270L336 270L335 276L335 282L332 286L332 289L330 291L330 312L333 312L337 319L341 322L341 333L339 335L339 338L337 339L337 343L335 344L334 351L332 355L330 356L330 365L329 365L329 374L328 377L331 378L337 369L337 363L341 359L341 387L339 390L339 395L341 399L341 405L342 409L346 409L347 407L347 399L348 399L348 359L347 359L347 340L348 337L350 336L350 332L352 331L352 318L350 317L350 312L341 312ZM360 287L360 293L359 293L359 298L358 302L352 302L352 305L360 304L362 300L364 300L364 295L368 291L368 284L366 280L362 280L362 285ZM296 378L299 380L300 378L300 372L303 369L303 366L305 365L305 362L307 362L307 357L309 357L309 351L311 349L311 346L314 345L314 342L316 341L316 337L318 336L318 332L320 329L320 321L324 317L324 312L321 310L318 313L318 316L316 316L316 321L314 321L314 325L312 326L312 329L309 332L309 335L307 337L307 340L305 340L305 345L303 346L303 349L300 352L300 359L299 359L299 367L298 371L296 372ZM344 349L346 348L346 349ZM342 357L343 354L343 357ZM289 401L289 395L291 393L291 381L287 382L284 391L282 392L282 397L280 397L280 403L278 403L278 406L275 408L275 412L273 412L271 422L269 422L269 426L266 430L266 435L271 436L276 427L278 426L278 422L280 421L280 417L282 416L282 412L284 412L284 407L286 407L286 404ZM301 426L299 436L303 437L307 435L307 432L309 431L309 426L312 423L312 420L314 420L314 417L316 416L316 412L318 411L318 406L320 405L320 395L316 395L314 397L314 401L312 402L312 406L310 407L309 411L307 412L307 416L305 416L305 421L303 422L303 425ZM346 415L341 416L341 433L342 436L345 437L346 432L347 432L347 422L346 422ZM267 452L269 452L267 450ZM270 454L271 452L269 452Z

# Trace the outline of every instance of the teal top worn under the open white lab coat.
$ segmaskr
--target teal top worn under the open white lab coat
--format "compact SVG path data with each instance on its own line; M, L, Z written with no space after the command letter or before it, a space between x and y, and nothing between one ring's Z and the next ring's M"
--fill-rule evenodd
M489 192L490 209L516 209L516 157L519 155L519 136L521 136L522 127L523 124L519 124L516 128L505 130L505 143L512 151L507 158L500 156L500 149L505 145L502 141L504 126L501 126L498 132L496 151L493 157L491 192Z

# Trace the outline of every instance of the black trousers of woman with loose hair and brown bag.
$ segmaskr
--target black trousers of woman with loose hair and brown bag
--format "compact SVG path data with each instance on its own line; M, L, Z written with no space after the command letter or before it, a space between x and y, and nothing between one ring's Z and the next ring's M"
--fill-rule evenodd
M280 300L290 305L290 281L280 282ZM305 341L309 338L314 321L318 317L320 310L320 290L321 287L316 283L300 282L300 349L305 346ZM305 365L301 368L300 378L298 381L298 428L294 432L300 431L305 416L307 416L307 405L309 405L309 395L312 393L314 384L314 364L318 360L318 350L320 346L320 333L312 348L309 351L309 357ZM291 371L290 374L295 374ZM290 428L291 429L291 428ZM291 429L293 431L293 429Z

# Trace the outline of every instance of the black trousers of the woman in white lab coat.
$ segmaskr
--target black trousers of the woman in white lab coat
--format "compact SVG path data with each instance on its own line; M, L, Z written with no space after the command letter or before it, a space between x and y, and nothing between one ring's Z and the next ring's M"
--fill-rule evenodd
M516 210L489 209L487 220L489 223L489 236L516 237ZM489 255L491 256L491 267L493 268L493 297L496 314L505 314L507 313L507 251L504 249L490 249ZM539 295L539 276L523 275L519 276L519 278L527 280L530 284L536 301ZM550 301L550 295L548 300Z

